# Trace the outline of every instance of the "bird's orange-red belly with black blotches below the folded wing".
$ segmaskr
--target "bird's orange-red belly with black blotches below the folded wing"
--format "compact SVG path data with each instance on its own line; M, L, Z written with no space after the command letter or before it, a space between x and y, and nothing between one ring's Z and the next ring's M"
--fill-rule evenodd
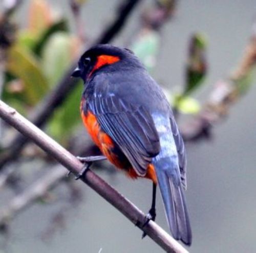
M110 160L110 162L114 164L117 168L123 169L131 178L137 178L138 174L136 173L136 171L132 168L127 158L117 147L111 137L100 128L100 125L94 114L90 111L84 114L82 109L82 103L80 109L83 124L91 135L92 140L99 147L103 155L105 155ZM153 164L148 165L145 177L157 183L156 173Z

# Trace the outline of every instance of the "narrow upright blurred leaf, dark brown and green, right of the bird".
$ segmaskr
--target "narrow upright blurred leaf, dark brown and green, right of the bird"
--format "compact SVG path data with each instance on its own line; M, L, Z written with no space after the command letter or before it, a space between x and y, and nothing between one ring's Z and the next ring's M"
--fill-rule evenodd
M203 83L207 72L207 63L205 60L206 46L207 42L202 34L196 33L191 37L186 66L184 95L190 94Z

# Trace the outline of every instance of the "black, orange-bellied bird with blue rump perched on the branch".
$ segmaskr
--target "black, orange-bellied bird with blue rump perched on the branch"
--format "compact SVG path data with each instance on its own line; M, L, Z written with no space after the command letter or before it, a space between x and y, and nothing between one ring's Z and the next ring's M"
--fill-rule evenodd
M84 81L80 111L93 141L129 177L153 180L153 220L159 185L170 231L190 245L185 149L160 86L130 50L108 44L85 52L72 76Z

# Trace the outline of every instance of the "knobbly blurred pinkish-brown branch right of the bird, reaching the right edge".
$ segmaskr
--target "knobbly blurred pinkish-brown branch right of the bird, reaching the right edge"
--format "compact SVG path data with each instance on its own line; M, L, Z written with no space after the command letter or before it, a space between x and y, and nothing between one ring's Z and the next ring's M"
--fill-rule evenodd
M249 87L249 77L256 66L256 33L253 32L236 71L214 85L201 111L181 127L185 142L209 139L211 128L226 117L230 107L241 98Z

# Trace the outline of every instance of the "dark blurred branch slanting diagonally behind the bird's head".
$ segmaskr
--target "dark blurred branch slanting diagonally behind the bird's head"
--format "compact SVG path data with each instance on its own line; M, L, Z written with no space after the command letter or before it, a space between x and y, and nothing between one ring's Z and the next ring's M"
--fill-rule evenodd
M136 3L141 0L126 0L122 4L121 11L117 15L113 23L102 32L99 39L93 44L98 43L109 43L123 27L125 21L127 20L129 14L132 12ZM115 30L114 30L115 28ZM75 61L69 70L63 75L59 84L56 88L51 91L51 94L44 99L33 111L33 113L28 117L34 125L42 127L46 124L48 119L51 117L54 109L60 106L63 101L67 98L68 94L76 87L77 80L71 79L71 73L73 72L77 61ZM13 137L13 141L10 144L10 148L3 153L0 157L0 170L10 161L18 157L20 151L22 151L24 145L28 142L28 139L20 134Z

